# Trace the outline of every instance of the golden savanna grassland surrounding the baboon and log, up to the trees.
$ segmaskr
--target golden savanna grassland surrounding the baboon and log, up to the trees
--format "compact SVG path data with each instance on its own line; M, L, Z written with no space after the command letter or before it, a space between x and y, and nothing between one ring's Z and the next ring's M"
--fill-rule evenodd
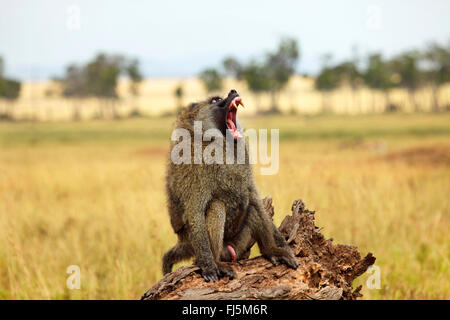
M172 118L0 123L0 298L136 299L176 237L165 206ZM272 116L275 221L302 198L336 243L373 252L365 299L450 298L450 114ZM255 168L257 169L257 168ZM254 252L256 254L256 252ZM81 289L66 269L81 268Z

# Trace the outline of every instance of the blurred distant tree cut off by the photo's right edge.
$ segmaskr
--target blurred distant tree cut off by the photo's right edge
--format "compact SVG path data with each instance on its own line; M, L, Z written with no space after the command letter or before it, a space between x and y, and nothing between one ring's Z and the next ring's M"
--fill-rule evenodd
M447 46L431 43L424 53L428 69L425 71L427 81L433 93L433 112L440 110L438 94L440 87L450 82L450 42Z

